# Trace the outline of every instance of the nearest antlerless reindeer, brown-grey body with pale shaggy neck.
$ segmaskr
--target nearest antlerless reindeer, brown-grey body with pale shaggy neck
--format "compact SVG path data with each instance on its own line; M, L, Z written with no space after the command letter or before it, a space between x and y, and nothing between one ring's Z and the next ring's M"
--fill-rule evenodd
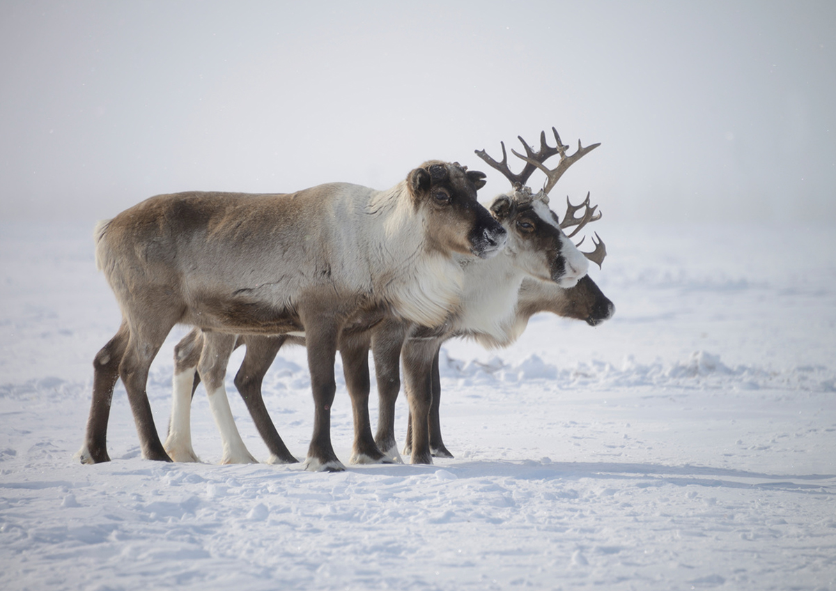
M329 432L338 340L387 316L434 326L458 307L463 273L453 254L492 257L507 239L476 199L484 176L429 160L387 191L331 183L286 195L178 193L100 222L96 262L122 323L94 359L81 461L110 460L117 379L142 456L171 461L145 387L151 361L179 323L213 335L199 367L210 400L226 400L212 359L225 370L236 335L303 332L315 406L307 466L341 469Z

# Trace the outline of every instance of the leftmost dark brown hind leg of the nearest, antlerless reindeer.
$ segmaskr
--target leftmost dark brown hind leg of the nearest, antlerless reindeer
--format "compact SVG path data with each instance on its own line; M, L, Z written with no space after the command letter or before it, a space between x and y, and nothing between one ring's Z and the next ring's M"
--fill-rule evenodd
M119 365L128 344L128 325L122 321L113 339L105 344L93 361L93 400L87 419L84 445L76 454L82 464L110 461L107 453L107 424L113 389L119 380Z

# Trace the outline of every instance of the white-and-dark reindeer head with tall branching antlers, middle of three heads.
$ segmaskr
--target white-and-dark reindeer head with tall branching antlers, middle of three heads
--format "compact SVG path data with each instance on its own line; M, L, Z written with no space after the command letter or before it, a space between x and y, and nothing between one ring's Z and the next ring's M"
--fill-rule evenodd
M590 150L594 150L599 144L590 145L587 148L579 145L579 150L575 154L567 156L568 146L561 143L557 130L552 129L557 146L548 145L545 133L541 133L540 150L536 153L522 137L519 138L527 153L523 156L512 150L514 155L527 162L519 174L512 173L508 168L504 143L502 143L502 162L493 160L484 150L477 150L477 155L489 166L502 172L513 187L511 192L498 196L493 201L491 212L509 232L508 248L514 255L515 264L522 266L533 277L551 280L558 283L560 287L570 288L586 274L589 267L587 258L599 265L604 260L604 243L600 242L600 239L596 250L589 253L580 252L569 240L587 223L599 219L600 213L595 216L597 206L589 206L589 196L587 196L587 200L579 206L572 206L569 203L563 222L559 222L558 216L548 208L548 191L553 188L568 166ZM543 162L556 154L560 155L560 163L553 171L549 171L543 166ZM546 172L548 181L543 190L533 194L525 183L538 168ZM575 212L581 208L585 208L584 215L576 217ZM577 228L567 237L563 229L572 226L577 226ZM548 269L548 273L544 273L543 269Z

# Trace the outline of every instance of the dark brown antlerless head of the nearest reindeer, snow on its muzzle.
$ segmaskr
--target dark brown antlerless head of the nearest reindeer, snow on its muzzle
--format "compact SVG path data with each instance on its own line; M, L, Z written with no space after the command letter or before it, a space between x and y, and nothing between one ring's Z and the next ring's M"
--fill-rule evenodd
M485 175L457 162L429 160L407 176L415 209L422 211L431 248L488 258L505 246L506 231L477 201Z

